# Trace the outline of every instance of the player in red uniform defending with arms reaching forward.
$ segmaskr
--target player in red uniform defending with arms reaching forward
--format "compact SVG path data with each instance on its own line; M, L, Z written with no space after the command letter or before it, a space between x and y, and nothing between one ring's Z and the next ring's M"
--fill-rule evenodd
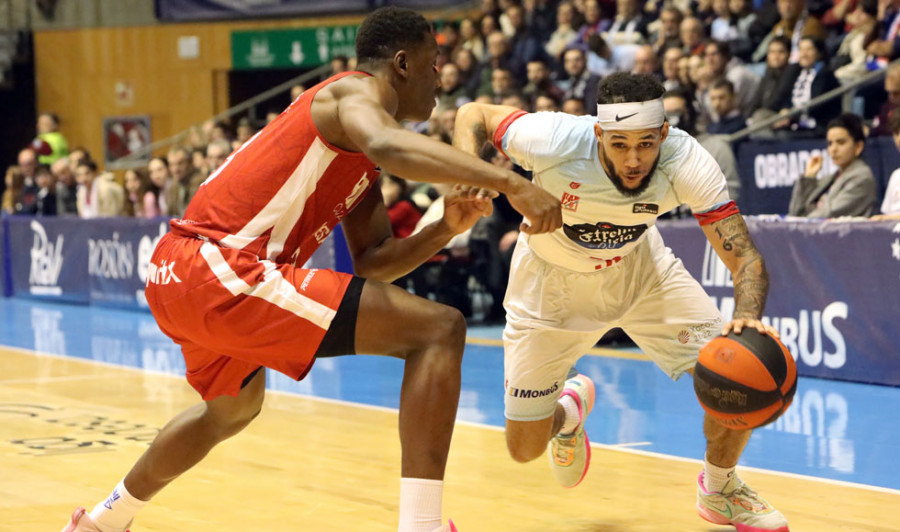
M421 15L373 12L356 50L358 72L297 98L209 176L161 239L147 301L181 345L187 379L204 402L163 427L112 494L89 513L77 509L64 532L125 530L153 495L259 413L263 367L302 379L316 358L353 353L405 359L398 530L440 527L465 322L386 283L488 214L485 190L505 193L530 221L528 233L560 227L560 204L513 172L398 124L427 119L440 86L437 45ZM446 198L443 219L396 240L373 187L376 165L473 188ZM339 222L359 277L303 269Z

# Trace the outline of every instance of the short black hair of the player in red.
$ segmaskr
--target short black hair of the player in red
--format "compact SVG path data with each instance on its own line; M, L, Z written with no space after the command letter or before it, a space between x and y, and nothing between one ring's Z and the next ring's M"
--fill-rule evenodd
M376 9L356 33L357 63L390 59L398 50L424 43L431 31L431 23L412 9Z

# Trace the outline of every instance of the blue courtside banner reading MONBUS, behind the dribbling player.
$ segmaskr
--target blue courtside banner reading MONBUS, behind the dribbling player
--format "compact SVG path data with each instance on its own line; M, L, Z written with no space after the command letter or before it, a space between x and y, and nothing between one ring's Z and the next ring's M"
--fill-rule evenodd
M798 372L900 386L900 224L747 218L747 225L769 271L763 321L779 331ZM659 229L730 318L731 274L696 221Z

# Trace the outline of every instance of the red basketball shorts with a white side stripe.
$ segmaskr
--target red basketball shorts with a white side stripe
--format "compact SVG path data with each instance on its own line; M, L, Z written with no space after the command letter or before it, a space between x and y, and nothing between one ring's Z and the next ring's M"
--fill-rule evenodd
M181 345L187 380L204 400L236 396L260 366L302 379L353 278L176 233L150 262L150 310Z

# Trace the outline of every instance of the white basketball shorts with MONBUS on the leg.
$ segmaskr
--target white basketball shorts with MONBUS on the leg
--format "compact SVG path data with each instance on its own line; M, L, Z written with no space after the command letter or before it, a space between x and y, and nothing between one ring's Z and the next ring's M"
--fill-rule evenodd
M724 324L655 227L620 262L591 273L556 267L520 238L503 305L506 418L513 421L552 416L569 368L613 327L674 380Z

